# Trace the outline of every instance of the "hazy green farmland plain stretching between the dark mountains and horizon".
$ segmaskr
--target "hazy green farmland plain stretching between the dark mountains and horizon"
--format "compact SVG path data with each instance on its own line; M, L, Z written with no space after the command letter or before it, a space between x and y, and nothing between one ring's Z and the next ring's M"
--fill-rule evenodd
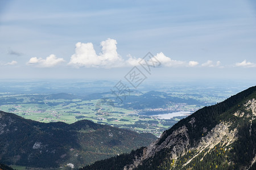
M38 90L34 87L35 82L26 82L26 86L22 86L22 83L19 86L14 86L15 83L10 82L2 83L0 110L40 122L62 121L71 124L86 119L98 124L126 128L138 133L150 132L159 136L181 118L189 115L180 114L178 117L164 119L158 117L159 114L180 111L193 113L204 106L225 100L236 92L227 88L216 91L214 87L192 85L171 88L163 86L158 87L158 91L148 91L152 87L144 86L140 91L131 90L129 95L121 96L120 102L120 98L108 91L113 84L111 82L103 82L106 87L102 89L106 91L92 93L102 85L102 82L97 83L99 82L76 83L76 86L88 86L80 93L68 83L65 86L63 83L51 86L51 83L45 86L39 83ZM63 88L61 93L55 93L60 91L58 86ZM191 88L197 90L191 93ZM91 89L91 93L88 89Z

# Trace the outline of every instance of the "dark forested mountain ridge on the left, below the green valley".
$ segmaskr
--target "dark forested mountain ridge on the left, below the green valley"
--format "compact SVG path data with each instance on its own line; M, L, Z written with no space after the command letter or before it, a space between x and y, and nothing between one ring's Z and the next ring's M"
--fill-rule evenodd
M0 162L79 168L149 145L156 137L82 120L42 123L0 112Z

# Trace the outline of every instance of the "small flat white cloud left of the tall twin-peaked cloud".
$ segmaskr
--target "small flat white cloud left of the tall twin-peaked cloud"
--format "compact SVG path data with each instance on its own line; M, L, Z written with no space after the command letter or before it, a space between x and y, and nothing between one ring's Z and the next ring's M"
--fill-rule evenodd
M50 56L46 57L46 59L32 57L27 64L38 67L53 67L64 61L65 60L63 58L57 58L55 55L51 54Z

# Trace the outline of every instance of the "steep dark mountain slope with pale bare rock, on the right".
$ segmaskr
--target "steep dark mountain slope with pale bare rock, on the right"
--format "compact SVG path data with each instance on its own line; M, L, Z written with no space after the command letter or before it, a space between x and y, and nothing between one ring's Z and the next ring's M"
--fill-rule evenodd
M148 147L82 169L255 169L255 118L256 86L191 114Z

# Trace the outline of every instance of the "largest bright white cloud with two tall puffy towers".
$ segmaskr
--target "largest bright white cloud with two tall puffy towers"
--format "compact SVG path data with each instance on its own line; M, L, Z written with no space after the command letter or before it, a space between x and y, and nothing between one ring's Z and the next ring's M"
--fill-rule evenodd
M117 41L108 39L101 42L101 53L96 54L91 42L77 42L76 53L71 56L69 65L76 67L122 67L123 59L117 53Z

